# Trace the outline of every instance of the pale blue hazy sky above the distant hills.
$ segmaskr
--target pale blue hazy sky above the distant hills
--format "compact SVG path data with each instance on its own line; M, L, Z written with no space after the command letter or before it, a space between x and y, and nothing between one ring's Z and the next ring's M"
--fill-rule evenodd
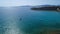
M60 0L0 0L0 6L60 5Z

